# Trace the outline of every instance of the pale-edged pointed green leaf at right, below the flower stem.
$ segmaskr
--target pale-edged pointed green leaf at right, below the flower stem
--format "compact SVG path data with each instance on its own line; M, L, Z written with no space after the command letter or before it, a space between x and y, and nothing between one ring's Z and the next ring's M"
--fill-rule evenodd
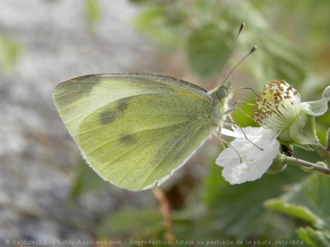
M270 199L264 206L298 219L310 222L319 229L330 229L330 179L311 175L297 190L277 199Z

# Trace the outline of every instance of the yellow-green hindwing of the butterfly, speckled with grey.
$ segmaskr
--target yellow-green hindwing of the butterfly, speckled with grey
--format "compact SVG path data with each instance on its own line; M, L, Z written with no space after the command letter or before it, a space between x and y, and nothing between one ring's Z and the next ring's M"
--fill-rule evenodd
M182 100L183 107L177 107ZM201 104L208 102L178 94L113 101L83 120L77 139L81 152L98 174L120 187L161 184L209 136Z

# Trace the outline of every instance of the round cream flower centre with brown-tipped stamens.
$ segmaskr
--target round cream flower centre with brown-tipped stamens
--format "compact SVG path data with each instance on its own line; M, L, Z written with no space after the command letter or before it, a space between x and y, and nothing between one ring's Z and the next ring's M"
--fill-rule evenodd
M267 130L281 131L287 129L300 113L300 96L285 80L272 80L263 86L255 106L252 118L256 124Z

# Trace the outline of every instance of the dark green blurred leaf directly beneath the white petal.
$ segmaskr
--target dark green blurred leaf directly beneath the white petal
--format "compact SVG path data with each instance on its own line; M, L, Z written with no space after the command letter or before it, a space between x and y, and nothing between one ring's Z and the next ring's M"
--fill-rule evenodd
M210 208L208 217L212 222L209 229L215 234L220 232L238 239L246 238L252 232L269 233L269 229L274 229L272 224L276 219L269 221L269 211L262 206L263 202L279 196L283 185L299 181L305 177L303 173L300 169L291 166L277 175L264 174L260 179L252 182L230 185L221 178L221 168L212 166L207 180L206 194L206 203ZM281 230L283 232L280 232ZM277 235L290 230L293 228L279 229ZM270 237L266 236L266 238Z

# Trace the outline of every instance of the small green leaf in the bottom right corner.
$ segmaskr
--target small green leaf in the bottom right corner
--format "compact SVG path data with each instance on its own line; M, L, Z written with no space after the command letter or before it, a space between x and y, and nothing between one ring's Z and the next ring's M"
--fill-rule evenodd
M311 247L330 247L330 233L319 231L310 227L299 228L296 230L299 238Z

